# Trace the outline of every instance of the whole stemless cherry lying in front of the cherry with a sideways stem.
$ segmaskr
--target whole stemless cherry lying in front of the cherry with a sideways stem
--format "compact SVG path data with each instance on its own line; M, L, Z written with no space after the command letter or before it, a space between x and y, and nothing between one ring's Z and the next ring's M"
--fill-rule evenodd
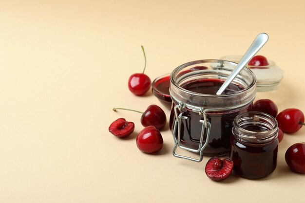
M163 147L162 135L154 126L142 129L135 142L136 146L145 153L154 153L160 151Z

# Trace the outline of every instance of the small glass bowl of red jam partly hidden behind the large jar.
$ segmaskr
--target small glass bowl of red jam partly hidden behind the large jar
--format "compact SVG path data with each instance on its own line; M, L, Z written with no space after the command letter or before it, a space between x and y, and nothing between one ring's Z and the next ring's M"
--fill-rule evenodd
M157 80L154 83L154 86L152 87L152 93L160 100L172 102L170 96L170 75L167 75Z

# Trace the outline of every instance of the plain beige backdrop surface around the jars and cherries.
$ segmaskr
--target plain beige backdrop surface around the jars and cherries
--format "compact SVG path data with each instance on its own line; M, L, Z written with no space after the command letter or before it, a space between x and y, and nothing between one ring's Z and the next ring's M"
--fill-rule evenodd
M284 154L305 141L305 128L285 135L269 177L216 183L204 173L207 157L172 156L168 126L162 152L147 155L135 145L140 114L112 111L162 106L128 91L144 65L141 44L153 79L191 60L241 55L260 32L269 35L260 54L285 78L257 99L305 111L303 0L186 2L0 1L1 203L304 201L305 176L289 171ZM134 121L130 138L108 132L118 117Z

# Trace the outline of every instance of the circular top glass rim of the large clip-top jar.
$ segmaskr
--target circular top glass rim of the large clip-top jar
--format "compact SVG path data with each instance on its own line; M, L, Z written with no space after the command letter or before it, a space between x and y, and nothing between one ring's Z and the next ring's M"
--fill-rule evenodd
M250 88L252 88L256 84L256 76L255 76L255 74L250 69L248 69L245 66L243 69L248 71L249 74L252 75L253 80L248 85L248 87L246 87L245 89L240 90L240 91L226 93L226 94L220 94L220 95L217 95L217 94L204 94L204 93L198 93L198 92L189 91L187 89L182 88L180 85L178 85L174 77L179 73L179 71L181 71L183 68L186 68L186 67L191 66L191 65L199 64L199 63L227 63L227 64L234 65L234 66L237 65L237 63L235 63L235 62L227 61L227 60L220 60L220 59L202 59L202 60L195 60L195 61L187 62L187 63L184 63L184 64L178 66L177 68L175 68L172 71L172 73L170 75L171 85L175 86L176 88L178 88L179 90L181 90L181 91L183 91L185 93L190 93L190 94L195 95L195 96L222 97L223 98L223 97L229 97L231 95L236 95L236 94L248 91ZM224 70L232 71L232 70L227 70L227 69L224 69ZM210 71L213 71L213 70L210 70ZM215 73L218 73L218 72L215 71Z

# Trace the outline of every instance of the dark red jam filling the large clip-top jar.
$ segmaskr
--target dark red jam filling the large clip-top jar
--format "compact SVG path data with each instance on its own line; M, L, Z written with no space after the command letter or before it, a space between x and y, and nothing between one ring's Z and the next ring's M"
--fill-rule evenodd
M223 83L224 81L218 79L205 79L188 82L184 84L182 88L190 90L192 92L216 94L216 92L219 90ZM226 89L225 93L234 93L241 90L243 90L242 87L237 86L235 84L230 84L229 87ZM170 128L172 129L172 131L175 120L173 112L173 108L175 105L177 104L172 104L172 111L170 116ZM207 114L207 117L211 124L210 139L208 141L209 144L203 150L203 154L205 156L220 156L228 154L229 141L234 118L240 113L251 111L251 109L252 103L248 104L247 106L243 106L239 109ZM202 123L200 123L199 121L203 120L204 118L198 113L192 111L186 111L183 115L188 116L188 119L182 119L181 122L181 145L183 145L184 147L197 149L199 147L199 139L202 128ZM177 134L175 134L175 136L177 137Z

